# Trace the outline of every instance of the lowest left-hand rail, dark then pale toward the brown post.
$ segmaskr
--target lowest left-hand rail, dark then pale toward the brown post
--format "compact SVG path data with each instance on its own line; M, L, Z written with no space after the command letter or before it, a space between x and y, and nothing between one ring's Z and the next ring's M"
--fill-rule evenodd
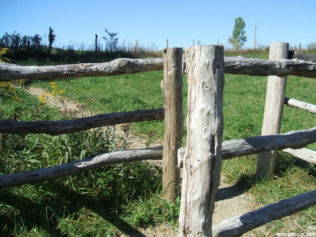
M82 173L114 163L161 160L162 152L163 147L113 151L105 154L91 155L88 158L79 161L72 161L54 167L42 168L22 173L0 175L0 188L62 178L67 175Z

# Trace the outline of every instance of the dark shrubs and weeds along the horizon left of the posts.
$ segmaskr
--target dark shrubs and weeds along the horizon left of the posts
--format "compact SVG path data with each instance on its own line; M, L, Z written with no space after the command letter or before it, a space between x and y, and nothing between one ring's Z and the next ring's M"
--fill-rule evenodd
M102 37L103 43L100 39L92 44L75 43L70 41L69 45L54 44L56 35L52 27L49 27L48 43L44 42L42 36L24 35L16 33L12 34L4 33L0 38L0 48L7 48L10 50L11 59L13 61L22 61L29 58L46 59L52 61L60 61L61 63L73 63L73 62L88 62L91 60L104 60L104 58L136 58L136 57L160 57L159 47L154 42L147 43L147 47L144 44L139 44L136 40L133 42L126 42L124 40L119 44L118 33L111 33L106 28L106 36ZM96 35L97 39L97 35ZM53 46L54 45L54 46Z

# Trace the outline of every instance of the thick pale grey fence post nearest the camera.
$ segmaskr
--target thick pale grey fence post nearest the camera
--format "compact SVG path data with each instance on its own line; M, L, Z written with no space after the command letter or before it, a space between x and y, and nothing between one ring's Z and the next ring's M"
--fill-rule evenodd
M180 236L212 236L223 137L224 48L186 48L187 144L183 162Z

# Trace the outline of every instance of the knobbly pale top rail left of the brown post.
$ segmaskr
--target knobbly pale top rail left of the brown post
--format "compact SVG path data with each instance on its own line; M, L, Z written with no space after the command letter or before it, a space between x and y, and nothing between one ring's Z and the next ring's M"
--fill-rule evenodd
M82 63L56 66L19 66L0 63L0 81L88 76L116 76L163 70L162 58L118 58L107 63Z

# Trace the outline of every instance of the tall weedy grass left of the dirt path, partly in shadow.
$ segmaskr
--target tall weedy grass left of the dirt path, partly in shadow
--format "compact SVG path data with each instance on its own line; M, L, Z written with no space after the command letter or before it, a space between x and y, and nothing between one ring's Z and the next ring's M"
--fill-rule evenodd
M1 97L1 119L56 120L61 115L33 96L19 94L23 104ZM124 141L111 127L60 136L0 134L0 144L0 174L56 166L124 148ZM121 236L139 234L140 226L176 226L179 198L171 204L161 197L161 175L161 168L151 163L130 162L1 189L0 236Z

